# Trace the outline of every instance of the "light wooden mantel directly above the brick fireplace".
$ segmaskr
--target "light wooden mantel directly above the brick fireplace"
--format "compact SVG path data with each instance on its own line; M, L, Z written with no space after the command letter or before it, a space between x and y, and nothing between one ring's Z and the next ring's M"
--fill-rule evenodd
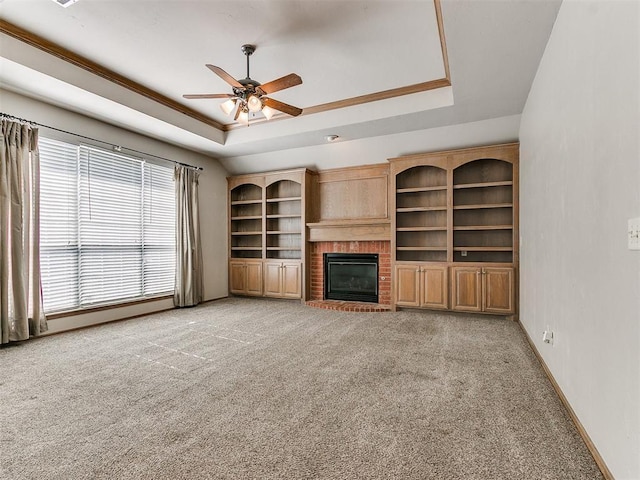
M310 242L391 241L387 218L331 220L307 223Z

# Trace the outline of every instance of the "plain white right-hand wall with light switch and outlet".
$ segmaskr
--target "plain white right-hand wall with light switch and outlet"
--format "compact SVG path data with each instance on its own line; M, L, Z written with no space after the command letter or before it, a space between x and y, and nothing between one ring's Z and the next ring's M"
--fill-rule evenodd
M520 126L520 318L620 480L640 479L639 31L640 2L565 0Z

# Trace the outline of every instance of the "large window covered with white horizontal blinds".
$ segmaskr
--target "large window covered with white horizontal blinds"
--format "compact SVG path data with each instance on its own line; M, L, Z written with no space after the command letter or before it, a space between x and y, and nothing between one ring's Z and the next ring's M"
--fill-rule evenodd
M45 311L173 292L173 168L85 145L39 145Z

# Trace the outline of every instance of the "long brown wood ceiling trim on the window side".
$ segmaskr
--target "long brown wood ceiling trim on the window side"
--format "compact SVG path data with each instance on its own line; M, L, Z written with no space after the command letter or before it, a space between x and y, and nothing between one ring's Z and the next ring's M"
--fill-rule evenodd
M215 121L214 119L209 118L200 112L192 110L191 108L182 105L181 103L178 103L175 100L172 100L169 97L166 97L161 93L156 92L155 90L145 87L144 85L135 82L123 75L120 75L119 73L116 73L109 68L103 67L102 65L99 65L86 57L78 55L77 53L74 53L71 50L67 50L66 48L56 43L50 42L49 40L39 35L20 28L13 23L7 22L6 20L0 20L0 33L9 35L17 40L20 40L21 42L26 43L27 45L31 45L38 50L42 50L43 52L58 57L65 62L71 63L76 67L80 67L83 70L86 70L94 75L113 82L116 85L120 85L121 87L131 90L132 92L158 102L165 107L169 107L172 110L183 113L191 118L194 118L195 120L198 120L219 130L223 129L223 125Z

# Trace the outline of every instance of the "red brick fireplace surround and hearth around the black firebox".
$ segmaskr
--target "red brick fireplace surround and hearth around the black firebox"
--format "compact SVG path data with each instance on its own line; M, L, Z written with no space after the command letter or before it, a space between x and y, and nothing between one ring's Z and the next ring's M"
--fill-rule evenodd
M311 291L307 304L334 310L354 312L387 311L391 305L391 242L388 241L332 241L310 243ZM378 302L325 301L324 258L325 253L377 253L378 254Z

